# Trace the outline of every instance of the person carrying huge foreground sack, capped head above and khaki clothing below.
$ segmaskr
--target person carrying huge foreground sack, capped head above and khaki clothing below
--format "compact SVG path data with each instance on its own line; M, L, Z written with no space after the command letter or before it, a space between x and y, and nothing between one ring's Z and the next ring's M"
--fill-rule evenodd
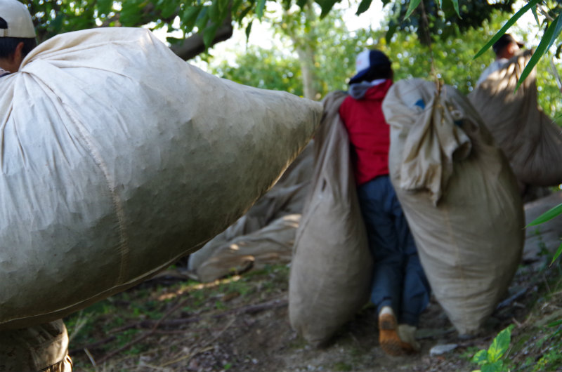
M18 72L35 46L35 28L27 6L17 0L0 0L0 92L2 77ZM0 371L72 371L63 320L1 330Z

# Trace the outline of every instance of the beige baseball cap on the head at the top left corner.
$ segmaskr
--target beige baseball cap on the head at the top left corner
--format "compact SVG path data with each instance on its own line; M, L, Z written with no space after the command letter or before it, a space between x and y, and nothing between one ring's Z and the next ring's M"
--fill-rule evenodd
M35 27L27 6L18 0L0 0L0 37L34 38Z

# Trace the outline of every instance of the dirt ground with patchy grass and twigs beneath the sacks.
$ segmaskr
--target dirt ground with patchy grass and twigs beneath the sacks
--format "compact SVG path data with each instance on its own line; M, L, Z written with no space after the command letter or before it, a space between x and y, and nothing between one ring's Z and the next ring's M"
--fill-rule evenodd
M562 318L562 270L544 265L559 234L545 231L535 234L538 241L529 235L506 301L480 335L459 338L432 300L417 333L422 350L414 356L382 352L373 307L326 347L308 345L289 324L287 265L206 285L182 279L179 265L66 319L74 371L473 371L471 356L509 324L521 340L511 359L530 365L547 352L532 339L540 337L537 324ZM436 354L439 345L455 348Z

